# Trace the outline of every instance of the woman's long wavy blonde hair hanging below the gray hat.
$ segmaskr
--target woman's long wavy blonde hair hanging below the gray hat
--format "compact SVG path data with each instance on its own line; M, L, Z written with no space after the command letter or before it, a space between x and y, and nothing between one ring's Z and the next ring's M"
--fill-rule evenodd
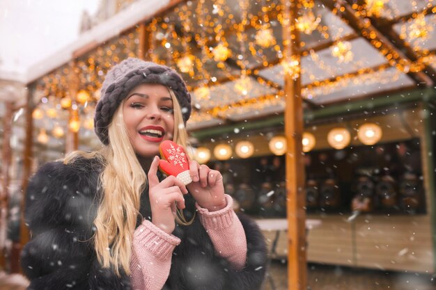
M173 90L169 90L169 93L174 109L173 140L186 147L188 135L180 104ZM120 268L130 274L133 232L137 224L141 193L147 182L146 172L137 159L125 128L124 102L123 100L118 106L109 124L109 145L98 152L72 152L64 159L66 164L74 162L78 156L97 158L104 166L98 182L102 198L94 220L94 245L102 267L113 266L117 275L120 275ZM180 222L180 219L176 220Z

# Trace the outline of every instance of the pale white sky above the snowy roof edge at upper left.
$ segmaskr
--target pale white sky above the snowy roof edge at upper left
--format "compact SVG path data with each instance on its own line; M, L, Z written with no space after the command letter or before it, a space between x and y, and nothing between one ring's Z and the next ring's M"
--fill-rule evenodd
M1 0L0 70L24 74L79 35L81 15L100 0Z

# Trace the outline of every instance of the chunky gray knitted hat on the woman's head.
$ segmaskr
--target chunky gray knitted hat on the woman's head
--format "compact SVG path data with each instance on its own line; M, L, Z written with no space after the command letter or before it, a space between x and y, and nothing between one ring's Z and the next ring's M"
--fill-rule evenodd
M182 77L170 67L156 63L141 61L138 58L127 58L107 72L103 81L101 98L95 108L95 134L104 145L109 144L107 128L121 101L135 86L141 83L160 83L175 92L182 108L183 121L191 115L191 95Z

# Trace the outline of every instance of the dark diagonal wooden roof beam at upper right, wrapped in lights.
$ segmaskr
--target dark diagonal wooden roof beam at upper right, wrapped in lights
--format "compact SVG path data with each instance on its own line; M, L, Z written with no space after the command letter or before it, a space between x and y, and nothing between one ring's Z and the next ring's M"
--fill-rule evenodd
M355 15L355 10L351 8L350 4L348 4L345 0L322 0L322 3L325 4L330 10L339 10L338 16L343 18L347 24L354 29L357 33L364 36L364 39L368 41L371 45L373 43L371 40L377 39L380 40L382 43L381 47L375 47L377 50L388 49L389 51L392 51L393 54L398 55L396 58L397 60L405 60L405 61L411 61L410 58L408 58L403 51L400 51L395 45L387 38L382 32L378 31L378 29L371 24L371 22L368 22L367 19L362 18L361 16ZM392 60L388 60L392 61ZM394 60L396 61L396 60ZM426 74L423 72L406 72L407 75L409 75L416 83L424 83L426 86L432 86L433 81L430 79Z

